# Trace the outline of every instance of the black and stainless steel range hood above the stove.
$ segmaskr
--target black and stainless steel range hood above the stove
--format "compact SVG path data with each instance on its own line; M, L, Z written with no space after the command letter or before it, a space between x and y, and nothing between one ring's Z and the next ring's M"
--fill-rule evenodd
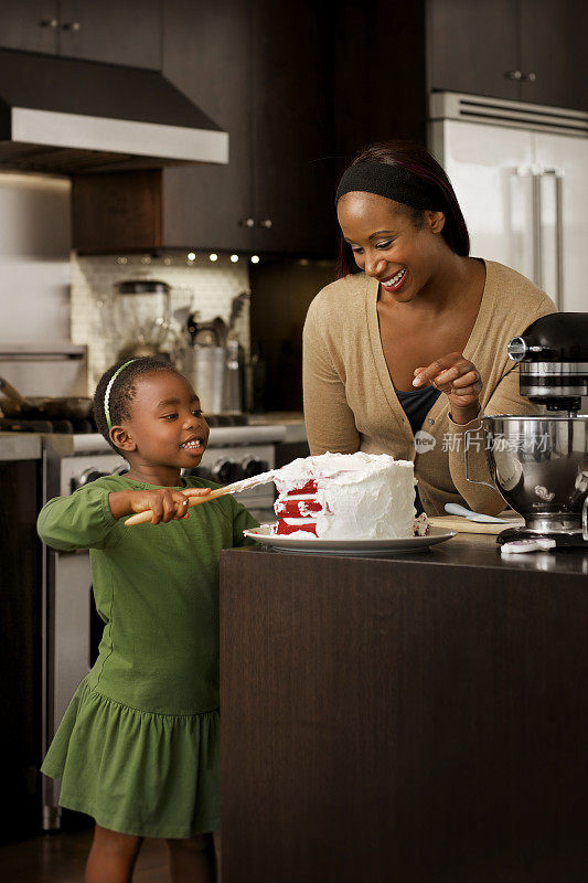
M0 50L0 169L228 162L228 135L157 71Z

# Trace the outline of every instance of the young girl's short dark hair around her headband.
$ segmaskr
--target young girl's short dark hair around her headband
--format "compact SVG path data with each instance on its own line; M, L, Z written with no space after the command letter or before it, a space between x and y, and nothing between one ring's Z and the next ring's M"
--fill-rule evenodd
M110 432L104 409L104 397L106 395L106 389L110 383L110 377L128 361L129 359L122 359L120 362L117 362L116 365L105 371L94 393L94 419L96 421L96 426L98 427L98 432L101 433L113 450L116 450L117 454L120 454L120 450L110 440ZM111 426L116 426L124 419L129 419L130 406L137 394L137 377L141 374L152 374L153 371L173 371L178 373L170 362L163 362L161 359L152 358L136 359L120 372L110 387L110 395L108 398Z

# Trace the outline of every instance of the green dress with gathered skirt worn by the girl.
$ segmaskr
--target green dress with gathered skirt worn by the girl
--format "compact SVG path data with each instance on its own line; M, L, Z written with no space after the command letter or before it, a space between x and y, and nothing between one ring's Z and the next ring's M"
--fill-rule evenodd
M168 524L113 518L110 492L154 487L106 476L41 511L47 545L89 549L106 624L41 769L62 780L61 806L103 828L188 838L221 822L218 554L249 545L257 522L229 494Z

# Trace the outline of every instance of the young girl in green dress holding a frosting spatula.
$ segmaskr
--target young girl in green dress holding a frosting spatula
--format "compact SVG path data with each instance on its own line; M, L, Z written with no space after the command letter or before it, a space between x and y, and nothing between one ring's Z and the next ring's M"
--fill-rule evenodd
M89 549L99 655L42 766L62 806L96 820L86 883L127 883L145 837L164 838L172 880L213 881L220 830L218 553L257 525L232 496L180 470L200 464L209 427L190 383L133 359L109 369L96 423L129 464L39 517L54 549ZM125 515L153 510L151 524ZM156 526L157 525L157 526Z

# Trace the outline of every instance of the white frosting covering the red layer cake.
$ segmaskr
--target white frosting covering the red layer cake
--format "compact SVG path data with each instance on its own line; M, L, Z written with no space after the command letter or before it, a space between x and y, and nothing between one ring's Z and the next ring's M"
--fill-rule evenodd
M277 503L293 500L287 493L316 481L310 498L322 504L300 514L317 524L319 539L402 539L414 535L415 472L409 460L387 454L323 454L293 460L276 471ZM285 519L292 523L291 519ZM296 523L296 522L293 522ZM301 522L298 522L301 523ZM297 532L298 533L298 532ZM293 536L295 534L290 534ZM313 534L304 532L304 539Z

